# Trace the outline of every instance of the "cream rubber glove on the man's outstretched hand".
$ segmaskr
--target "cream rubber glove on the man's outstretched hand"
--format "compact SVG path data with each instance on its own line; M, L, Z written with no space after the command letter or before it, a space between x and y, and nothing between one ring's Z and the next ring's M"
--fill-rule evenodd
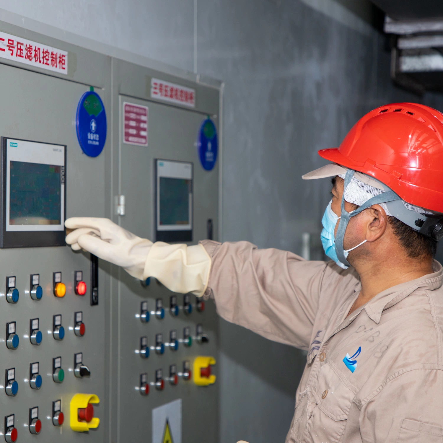
M202 245L152 243L116 225L108 218L73 217L65 221L66 243L74 251L84 249L122 266L140 280L155 277L168 289L203 295L209 280L211 259Z

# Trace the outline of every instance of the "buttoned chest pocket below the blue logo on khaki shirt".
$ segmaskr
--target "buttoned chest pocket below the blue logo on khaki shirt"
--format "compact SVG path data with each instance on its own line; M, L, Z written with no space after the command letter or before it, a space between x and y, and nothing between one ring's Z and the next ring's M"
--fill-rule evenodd
M313 395L320 410L332 420L346 420L355 393L349 389L334 369L326 363L319 371Z

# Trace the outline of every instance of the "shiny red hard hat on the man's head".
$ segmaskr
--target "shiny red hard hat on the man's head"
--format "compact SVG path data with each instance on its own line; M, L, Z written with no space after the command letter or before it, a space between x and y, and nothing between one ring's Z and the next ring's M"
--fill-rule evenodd
M339 148L319 155L372 175L404 201L443 212L443 114L417 103L392 103L367 113Z

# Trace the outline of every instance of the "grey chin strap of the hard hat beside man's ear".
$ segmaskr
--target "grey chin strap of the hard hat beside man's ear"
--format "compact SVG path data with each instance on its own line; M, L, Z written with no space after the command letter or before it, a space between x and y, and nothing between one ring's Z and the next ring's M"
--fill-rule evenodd
M352 177L354 176L354 172L355 171L353 171L352 169L348 169L346 171L345 183L343 185L343 195L342 195L342 206L341 206L342 213L340 221L338 223L337 234L335 235L335 252L337 253L337 258L346 266L350 266L350 263L348 262L348 260L346 260L345 257L345 251L343 249L343 239L345 238L346 227L348 226L349 219L357 214L360 214L361 211L368 209L372 205L376 205L379 203L393 202L394 200L400 200L400 197L394 191L389 190L381 194L378 194L372 198L369 198L367 202L359 206L356 210L352 211L352 213L347 212L345 210L345 190L348 187L349 183L351 183ZM352 249L349 250L352 251Z

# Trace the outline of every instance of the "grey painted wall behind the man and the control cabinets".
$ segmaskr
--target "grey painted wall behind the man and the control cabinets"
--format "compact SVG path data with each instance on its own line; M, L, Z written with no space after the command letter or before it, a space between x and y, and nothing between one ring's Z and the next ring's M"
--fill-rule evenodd
M384 37L359 18L369 14L363 0L0 0L0 8L225 82L223 240L299 252L301 233L311 232L312 256L322 258L329 184L300 179L323 164L316 151L337 146L383 103L443 109L441 96L392 85ZM221 321L220 443L284 441L303 358Z

